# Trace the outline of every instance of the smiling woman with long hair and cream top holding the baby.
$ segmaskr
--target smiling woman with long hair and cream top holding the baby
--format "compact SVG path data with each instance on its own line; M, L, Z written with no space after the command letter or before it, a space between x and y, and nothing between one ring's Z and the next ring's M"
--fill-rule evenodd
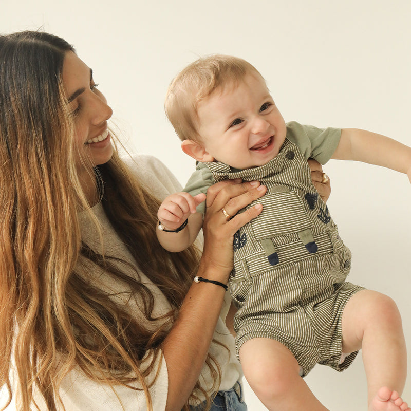
M261 208L230 221L221 210L265 188L214 185L202 257L168 253L153 227L178 183L151 157L120 160L111 114L63 39L0 37L0 375L24 411L188 409L241 376L218 283L234 233Z

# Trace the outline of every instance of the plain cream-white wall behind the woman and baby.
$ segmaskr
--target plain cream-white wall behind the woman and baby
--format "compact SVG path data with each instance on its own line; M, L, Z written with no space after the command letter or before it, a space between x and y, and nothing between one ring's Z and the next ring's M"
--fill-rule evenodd
M0 0L0 7L1 32L42 27L72 43L94 69L130 150L159 157L181 182L194 162L165 119L164 95L181 68L209 53L249 60L286 121L365 128L411 145L409 0ZM411 349L411 185L366 164L324 168L331 214L353 253L349 280L395 299ZM366 409L361 357L341 374L317 366L306 381L329 409ZM411 377L403 397L411 402ZM246 399L250 410L265 409L247 386Z

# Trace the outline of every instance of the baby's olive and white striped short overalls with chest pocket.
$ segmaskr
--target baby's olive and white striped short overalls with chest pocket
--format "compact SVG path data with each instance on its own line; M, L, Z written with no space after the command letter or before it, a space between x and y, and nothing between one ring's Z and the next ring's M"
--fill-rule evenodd
M207 165L215 181L240 177L267 186L267 194L255 201L263 211L234 238L230 293L238 307L237 357L244 342L265 337L289 348L304 375L316 363L347 368L357 353L340 364L341 315L363 288L345 283L351 253L299 148L286 139L273 160L238 172L223 163Z

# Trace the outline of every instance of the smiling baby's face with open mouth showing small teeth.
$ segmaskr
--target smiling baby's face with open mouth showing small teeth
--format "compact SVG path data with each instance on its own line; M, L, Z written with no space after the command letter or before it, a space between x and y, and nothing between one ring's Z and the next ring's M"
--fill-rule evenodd
M215 161L235 169L263 165L286 138L283 116L265 81L247 74L238 84L216 90L198 106L202 145Z

